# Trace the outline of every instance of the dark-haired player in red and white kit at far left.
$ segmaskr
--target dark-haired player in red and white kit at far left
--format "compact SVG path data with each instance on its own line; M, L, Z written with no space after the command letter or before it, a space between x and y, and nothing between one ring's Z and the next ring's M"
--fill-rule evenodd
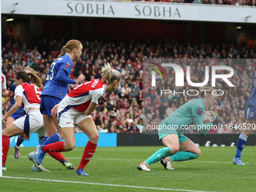
M35 84L29 84L29 82ZM7 159L10 137L26 134L26 137L29 139L32 133L38 133L38 136L41 138L45 135L43 116L39 111L41 89L44 87L41 83L41 79L34 72L29 72L28 74L26 72L17 72L14 77L14 84L16 86L14 91L15 103L11 109L2 116L2 120L14 114L21 105L23 105L26 115L18 118L8 125L5 130L2 130L2 166L5 165ZM41 170L45 171L44 168Z

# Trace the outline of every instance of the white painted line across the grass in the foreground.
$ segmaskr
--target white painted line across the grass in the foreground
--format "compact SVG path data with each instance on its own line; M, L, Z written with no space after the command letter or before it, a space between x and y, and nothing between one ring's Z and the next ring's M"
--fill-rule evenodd
M52 181L52 182L73 183L73 184L93 184L93 185L103 185L103 186L111 186L111 187L130 187L130 188L151 189L151 190L174 190L174 191L187 191L187 192L213 192L213 191L205 191L205 190L170 189L170 188L142 187L142 186L122 185L122 184L104 184L104 183L91 183L91 182L81 182L81 181L62 181L62 180L50 180L50 179L43 179L43 178L20 178L20 177L11 177L11 176L3 176L3 178L17 178L17 179L25 179L25 180Z

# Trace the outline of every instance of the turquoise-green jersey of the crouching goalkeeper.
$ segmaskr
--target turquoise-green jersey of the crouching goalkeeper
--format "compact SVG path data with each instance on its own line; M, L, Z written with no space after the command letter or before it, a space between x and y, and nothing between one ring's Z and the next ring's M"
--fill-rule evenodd
M203 123L203 111L206 111L203 99L192 99L172 112L158 127L158 134L180 135L188 125L193 124L201 136L205 136L212 123Z

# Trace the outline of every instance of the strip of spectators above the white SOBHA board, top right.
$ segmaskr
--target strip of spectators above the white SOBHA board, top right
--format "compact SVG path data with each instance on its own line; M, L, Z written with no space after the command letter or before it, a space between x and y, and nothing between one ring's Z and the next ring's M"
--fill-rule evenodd
M236 5L255 7L255 0L142 0L142 2L194 3L208 5Z

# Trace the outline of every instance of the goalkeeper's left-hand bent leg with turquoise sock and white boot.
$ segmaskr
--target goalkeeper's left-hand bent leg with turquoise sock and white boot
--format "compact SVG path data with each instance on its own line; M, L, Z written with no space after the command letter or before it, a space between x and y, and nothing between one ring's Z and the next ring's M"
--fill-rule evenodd
M148 166L150 166L151 163L156 163L160 160L163 160L165 157L169 157L170 155L176 154L178 152L178 135L170 134L167 136L163 136L163 138L160 139L162 139L163 145L166 145L166 148L161 148L143 163L140 163L139 166L137 166L137 169L150 171L150 169L148 169Z

